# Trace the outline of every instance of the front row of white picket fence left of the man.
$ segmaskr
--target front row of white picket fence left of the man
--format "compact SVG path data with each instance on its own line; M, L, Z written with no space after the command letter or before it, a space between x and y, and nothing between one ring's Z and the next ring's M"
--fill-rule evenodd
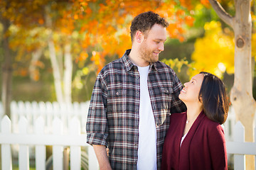
M46 169L46 145L53 146L53 169L63 169L63 149L70 147L70 169L81 169L81 147L88 147L88 169L98 169L93 148L86 143L86 135L80 132L80 120L73 117L68 126L68 134L63 134L60 118L53 119L53 133L46 134L45 123L39 116L33 134L28 133L28 120L21 116L18 133L11 131L11 120L7 115L1 120L1 169L12 169L11 145L18 145L18 169L29 169L29 146L36 147L36 169Z

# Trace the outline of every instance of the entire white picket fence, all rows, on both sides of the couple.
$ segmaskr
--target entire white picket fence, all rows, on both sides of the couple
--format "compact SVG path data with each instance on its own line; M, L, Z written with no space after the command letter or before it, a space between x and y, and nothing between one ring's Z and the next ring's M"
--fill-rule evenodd
M88 149L89 169L98 169L95 153L92 147L86 144L85 125L88 107L89 101L70 105L13 101L10 120L6 116L3 118L0 102L0 118L3 118L0 125L2 169L9 169L11 156L18 157L19 169L28 169L29 158L36 158L36 169L44 169L46 145L53 146L54 169L62 169L63 147L67 146L70 147L71 169L80 167L80 147ZM232 107L224 126L228 154L235 154L235 169L244 169L244 154L256 155L256 145L242 140L244 130L241 123L235 125Z

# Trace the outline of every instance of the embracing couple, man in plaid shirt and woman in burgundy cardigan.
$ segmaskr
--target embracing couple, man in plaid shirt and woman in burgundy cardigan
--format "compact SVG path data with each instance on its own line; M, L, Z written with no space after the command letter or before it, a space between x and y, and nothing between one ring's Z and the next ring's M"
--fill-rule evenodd
M97 76L86 129L100 169L228 169L225 86L201 72L183 87L158 61L168 26L151 11L136 16L132 50Z

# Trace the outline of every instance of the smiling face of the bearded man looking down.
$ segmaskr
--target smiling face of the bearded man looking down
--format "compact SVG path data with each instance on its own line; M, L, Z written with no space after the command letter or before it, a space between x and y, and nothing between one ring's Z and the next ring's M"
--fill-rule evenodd
M144 40L139 50L139 56L146 62L157 62L159 60L159 53L164 51L165 41L166 28L155 24L151 30L144 35Z

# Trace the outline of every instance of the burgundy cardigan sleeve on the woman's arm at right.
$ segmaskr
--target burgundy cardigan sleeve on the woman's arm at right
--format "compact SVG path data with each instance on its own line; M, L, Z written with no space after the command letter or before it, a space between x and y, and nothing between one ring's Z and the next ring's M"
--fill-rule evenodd
M209 147L213 169L228 169L228 158L225 145L224 130L221 125L211 128L209 135Z

